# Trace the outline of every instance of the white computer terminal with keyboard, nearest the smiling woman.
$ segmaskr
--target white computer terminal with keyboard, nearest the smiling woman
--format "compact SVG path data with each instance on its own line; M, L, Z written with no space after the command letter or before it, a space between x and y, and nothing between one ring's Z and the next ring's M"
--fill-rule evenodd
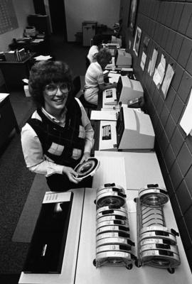
M100 121L100 151L151 151L154 129L149 114L123 104L117 121Z

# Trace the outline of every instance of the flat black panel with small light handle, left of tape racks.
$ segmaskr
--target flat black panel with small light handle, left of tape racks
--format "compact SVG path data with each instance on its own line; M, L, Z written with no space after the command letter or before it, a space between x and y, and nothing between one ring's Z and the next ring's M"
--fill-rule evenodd
M72 202L42 205L23 272L60 273Z

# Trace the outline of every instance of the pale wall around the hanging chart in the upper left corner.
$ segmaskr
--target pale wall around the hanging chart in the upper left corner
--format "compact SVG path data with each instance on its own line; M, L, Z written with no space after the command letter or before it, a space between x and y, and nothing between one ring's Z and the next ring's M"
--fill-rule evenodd
M35 13L33 0L13 0L14 9L18 21L18 28L0 35L0 51L6 51L9 48L13 38L22 38L24 28L27 26L27 16Z

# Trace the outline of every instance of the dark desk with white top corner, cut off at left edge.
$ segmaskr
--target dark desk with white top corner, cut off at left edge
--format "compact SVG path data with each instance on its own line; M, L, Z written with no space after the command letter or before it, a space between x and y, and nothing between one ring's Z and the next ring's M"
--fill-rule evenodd
M20 132L16 116L11 106L9 94L0 94L0 99L2 97L4 97L4 99L0 101L0 146L4 144L14 128L16 129L16 132Z

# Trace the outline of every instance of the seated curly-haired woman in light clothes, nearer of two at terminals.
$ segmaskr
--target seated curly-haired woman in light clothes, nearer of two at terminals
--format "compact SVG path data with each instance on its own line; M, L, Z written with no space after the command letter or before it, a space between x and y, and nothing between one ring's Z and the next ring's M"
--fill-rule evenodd
M99 91L117 87L117 83L105 83L103 70L112 60L112 55L107 48L102 48L96 55L97 62L92 62L85 74L84 97L90 104L97 105Z

